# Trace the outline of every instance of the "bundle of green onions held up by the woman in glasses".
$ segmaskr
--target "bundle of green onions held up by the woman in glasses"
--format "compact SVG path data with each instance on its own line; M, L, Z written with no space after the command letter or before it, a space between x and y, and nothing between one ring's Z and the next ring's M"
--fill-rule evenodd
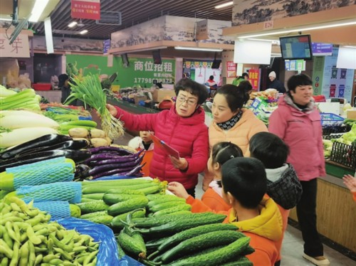
M66 105L73 100L81 100L86 105L93 107L100 115L101 127L110 139L117 139L124 134L123 124L120 120L113 117L106 108L106 93L101 87L98 75L86 75L82 80L73 78L70 83L69 97L66 100Z

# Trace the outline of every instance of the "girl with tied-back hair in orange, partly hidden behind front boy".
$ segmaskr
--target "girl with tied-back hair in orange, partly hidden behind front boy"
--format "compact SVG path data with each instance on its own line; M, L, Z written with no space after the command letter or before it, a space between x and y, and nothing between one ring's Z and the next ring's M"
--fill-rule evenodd
M208 170L214 174L215 179L209 183L201 201L209 206L213 211L229 211L231 206L222 198L221 186L221 166L231 158L242 157L242 151L239 146L231 142L216 143L211 149L208 160Z

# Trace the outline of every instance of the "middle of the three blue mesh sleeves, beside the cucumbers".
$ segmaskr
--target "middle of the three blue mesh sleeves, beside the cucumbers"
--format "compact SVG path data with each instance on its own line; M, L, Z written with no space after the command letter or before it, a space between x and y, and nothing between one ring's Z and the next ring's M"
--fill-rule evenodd
M26 203L36 201L69 201L80 203L82 199L82 184L80 182L46 183L39 186L20 186L16 194L23 196Z

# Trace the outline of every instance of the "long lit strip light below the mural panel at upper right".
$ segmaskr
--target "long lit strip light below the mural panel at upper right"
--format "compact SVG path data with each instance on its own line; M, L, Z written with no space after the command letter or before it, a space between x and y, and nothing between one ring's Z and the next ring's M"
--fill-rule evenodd
M355 18L345 19L344 21L318 23L318 24L315 24L315 26L302 26L302 27L298 27L298 28L280 29L280 30L273 30L273 31L268 31L268 32L260 32L260 33L256 33L256 34L241 35L241 36L239 36L239 38L255 38L255 37L261 37L261 36L271 36L271 35L292 33L292 32L298 32L298 31L313 31L313 30L319 30L322 28L335 28L335 27L350 26L350 25L356 25Z

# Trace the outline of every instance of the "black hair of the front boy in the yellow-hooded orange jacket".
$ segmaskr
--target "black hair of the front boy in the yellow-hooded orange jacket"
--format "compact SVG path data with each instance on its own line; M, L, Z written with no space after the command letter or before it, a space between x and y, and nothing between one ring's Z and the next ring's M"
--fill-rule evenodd
M225 193L231 193L244 208L257 208L267 191L266 170L255 158L238 157L226 161L221 169Z

